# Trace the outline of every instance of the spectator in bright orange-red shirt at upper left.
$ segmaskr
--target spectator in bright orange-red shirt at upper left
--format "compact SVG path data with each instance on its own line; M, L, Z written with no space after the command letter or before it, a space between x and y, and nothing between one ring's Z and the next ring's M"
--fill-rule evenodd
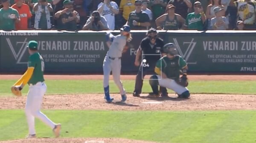
M12 6L12 8L16 9L20 16L20 22L15 24L15 29L27 30L28 21L32 17L29 6L23 3L23 0L15 0L15 4Z

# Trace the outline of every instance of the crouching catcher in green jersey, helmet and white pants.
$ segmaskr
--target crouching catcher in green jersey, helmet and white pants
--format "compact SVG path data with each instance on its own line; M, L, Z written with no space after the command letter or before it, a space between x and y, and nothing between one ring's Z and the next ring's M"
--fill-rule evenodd
M178 98L189 98L190 93L187 89L187 64L185 60L178 55L177 48L173 43L168 43L163 47L167 53L157 61L155 73L150 77L149 84L153 93L149 97L159 97L158 85L169 88L178 94ZM180 71L182 76L180 77Z

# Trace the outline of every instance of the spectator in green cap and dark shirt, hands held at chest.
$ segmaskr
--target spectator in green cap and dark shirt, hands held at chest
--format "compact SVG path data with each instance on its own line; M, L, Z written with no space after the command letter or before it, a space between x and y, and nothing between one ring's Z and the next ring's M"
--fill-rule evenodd
M76 23L80 17L77 11L73 10L73 5L70 0L63 2L64 9L55 13L54 17L58 21L58 30L76 31Z

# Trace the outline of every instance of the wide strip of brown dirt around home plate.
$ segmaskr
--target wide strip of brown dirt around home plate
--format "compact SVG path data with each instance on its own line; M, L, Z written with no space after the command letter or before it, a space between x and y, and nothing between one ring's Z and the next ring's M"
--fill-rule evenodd
M113 94L113 103L105 103L102 94L90 95L47 95L44 96L43 109L83 109L83 110L232 110L256 109L256 95L214 95L192 94L190 99L133 97L128 94L125 103L119 102L121 96ZM0 109L23 109L26 96L0 98Z

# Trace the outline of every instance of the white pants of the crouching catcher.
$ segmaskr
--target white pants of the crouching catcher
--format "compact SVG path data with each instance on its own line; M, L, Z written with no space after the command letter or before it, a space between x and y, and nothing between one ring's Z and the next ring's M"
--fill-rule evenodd
M179 95L188 90L187 87L183 87L177 84L176 81L173 79L161 79L161 76L159 75L157 75L157 79L158 79L159 86L171 89Z

